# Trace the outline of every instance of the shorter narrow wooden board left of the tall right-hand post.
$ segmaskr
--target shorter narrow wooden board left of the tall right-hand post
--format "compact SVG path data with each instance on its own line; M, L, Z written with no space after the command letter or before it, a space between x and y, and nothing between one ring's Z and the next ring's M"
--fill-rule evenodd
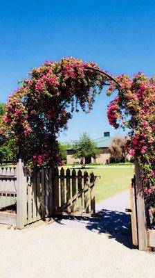
M129 186L130 193L130 204L131 204L131 231L132 231L132 243L138 245L138 234L137 234L137 215L136 215L136 196L135 196L135 179L132 179L131 185Z

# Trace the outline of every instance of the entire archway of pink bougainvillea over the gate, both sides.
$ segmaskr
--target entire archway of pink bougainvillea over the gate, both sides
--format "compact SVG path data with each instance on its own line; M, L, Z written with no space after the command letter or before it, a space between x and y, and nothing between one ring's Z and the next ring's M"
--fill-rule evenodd
M129 154L136 156L143 174L145 200L155 206L155 79L138 72L133 78L111 76L95 63L76 58L46 61L12 92L1 122L1 133L12 138L27 164L62 164L57 134L66 128L80 106L89 112L95 95L109 84L107 95L118 95L107 109L109 123L129 131Z

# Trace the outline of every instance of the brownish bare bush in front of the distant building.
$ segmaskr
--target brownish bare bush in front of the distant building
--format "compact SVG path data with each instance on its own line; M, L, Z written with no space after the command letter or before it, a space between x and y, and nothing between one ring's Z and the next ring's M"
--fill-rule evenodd
M113 163L125 162L127 158L127 139L125 137L113 138L109 146L110 160Z

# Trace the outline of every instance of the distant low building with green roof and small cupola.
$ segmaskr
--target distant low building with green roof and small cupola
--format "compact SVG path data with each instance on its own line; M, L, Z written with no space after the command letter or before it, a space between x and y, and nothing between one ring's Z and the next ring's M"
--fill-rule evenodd
M99 156L94 158L90 157L86 163L107 163L110 158L110 153L109 153L109 145L111 145L111 140L113 137L110 136L109 132L104 132L104 136L100 137L98 139L95 139L94 141L96 142L97 148L99 149ZM67 163L68 164L73 164L74 162L79 162L80 163L80 158L73 158L73 149L69 148L67 149Z

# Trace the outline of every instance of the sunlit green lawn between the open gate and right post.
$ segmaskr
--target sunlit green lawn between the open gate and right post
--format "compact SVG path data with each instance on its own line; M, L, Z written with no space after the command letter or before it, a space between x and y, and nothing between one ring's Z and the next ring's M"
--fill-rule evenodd
M128 189L131 179L134 176L133 166L94 167L92 169L86 169L86 171L88 173L93 172L95 175L100 176L100 179L98 179L95 184L96 203ZM82 170L82 172L84 172L84 170Z

